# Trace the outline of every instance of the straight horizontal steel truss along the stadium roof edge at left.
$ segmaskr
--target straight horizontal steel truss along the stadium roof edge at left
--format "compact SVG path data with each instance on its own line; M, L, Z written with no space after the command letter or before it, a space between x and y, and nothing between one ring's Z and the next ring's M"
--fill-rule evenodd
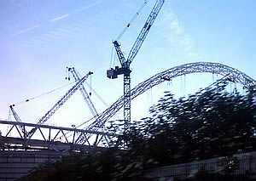
M0 150L90 150L96 146L111 146L112 144L109 142L109 139L117 137L117 135L113 133L103 133L69 127L54 127L25 122L0 120L0 125L1 127L3 127L3 125L11 125L8 133L0 135ZM25 133L20 132L20 127L23 127L24 130L32 128L36 131L34 131L32 136L28 138ZM85 136L88 133L94 136L91 137L90 140ZM15 134L15 137L11 137L10 134ZM41 139L38 139L40 137ZM83 137L83 142L79 142L81 137Z

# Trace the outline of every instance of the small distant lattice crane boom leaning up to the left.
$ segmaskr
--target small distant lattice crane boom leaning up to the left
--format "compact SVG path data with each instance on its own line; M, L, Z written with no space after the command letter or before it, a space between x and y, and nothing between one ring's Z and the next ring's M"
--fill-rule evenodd
M76 82L79 82L79 80L81 79L79 76L79 72L75 70L74 67L67 67L67 71L71 72L73 75L73 78L75 79ZM86 92L84 85L82 84L81 87L79 88L80 92L82 93L82 96L86 102L86 104L88 105L91 114L97 118L99 116L98 112L96 111L95 106L92 104L91 100L90 100L90 96L89 94Z

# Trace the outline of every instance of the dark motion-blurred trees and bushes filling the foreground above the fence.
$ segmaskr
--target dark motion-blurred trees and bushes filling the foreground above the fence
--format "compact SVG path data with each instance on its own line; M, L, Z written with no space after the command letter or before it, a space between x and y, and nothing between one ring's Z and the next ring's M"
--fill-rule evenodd
M38 167L20 180L147 180L148 168L255 150L256 90L228 93L226 86L220 81L179 99L166 92L115 147Z

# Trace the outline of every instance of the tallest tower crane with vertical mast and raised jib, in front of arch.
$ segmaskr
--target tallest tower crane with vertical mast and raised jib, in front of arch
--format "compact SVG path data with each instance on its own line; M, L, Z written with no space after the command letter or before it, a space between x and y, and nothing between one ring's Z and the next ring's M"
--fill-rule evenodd
M165 0L157 0L154 4L154 8L151 10L148 19L143 25L143 29L140 31L137 40L134 42L131 51L125 59L123 52L121 51L120 44L117 40L113 41L113 46L116 50L116 54L118 55L120 67L115 66L115 68L111 68L107 71L107 76L110 79L115 79L119 75L124 75L124 120L125 120L125 130L129 129L129 125L131 122L131 69L130 65L133 59L136 57L139 49L142 47L145 38L148 35L148 31L154 23L157 15L160 12ZM129 27L130 24L127 25Z

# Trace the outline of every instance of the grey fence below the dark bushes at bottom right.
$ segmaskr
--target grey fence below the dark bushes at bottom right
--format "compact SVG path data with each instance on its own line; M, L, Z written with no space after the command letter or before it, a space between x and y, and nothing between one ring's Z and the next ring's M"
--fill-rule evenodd
M232 158L236 159L237 167L231 174L236 175L256 175L256 151L237 154ZM202 168L208 173L224 173L224 165L221 165L221 161L224 161L225 157L218 157L202 161L193 161L189 163L177 164L168 167L158 167L150 170L147 173L149 178L158 180L160 178L187 178L195 176ZM232 160L230 160L232 161ZM234 160L233 160L234 161Z

